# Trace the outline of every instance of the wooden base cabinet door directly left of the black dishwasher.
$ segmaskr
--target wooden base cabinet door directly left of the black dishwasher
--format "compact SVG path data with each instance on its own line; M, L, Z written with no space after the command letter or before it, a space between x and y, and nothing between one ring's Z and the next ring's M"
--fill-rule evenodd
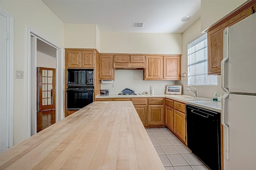
M185 142L185 132L186 132L186 126L185 126L185 113L182 113L180 111L174 110L174 125L173 130L174 133L180 137L181 140Z

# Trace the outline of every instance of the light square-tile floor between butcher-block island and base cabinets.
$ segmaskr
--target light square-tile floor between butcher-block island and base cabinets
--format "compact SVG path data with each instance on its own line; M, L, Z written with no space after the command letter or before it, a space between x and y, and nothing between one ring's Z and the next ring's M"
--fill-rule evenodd
M167 128L147 128L166 170L208 170L184 143Z

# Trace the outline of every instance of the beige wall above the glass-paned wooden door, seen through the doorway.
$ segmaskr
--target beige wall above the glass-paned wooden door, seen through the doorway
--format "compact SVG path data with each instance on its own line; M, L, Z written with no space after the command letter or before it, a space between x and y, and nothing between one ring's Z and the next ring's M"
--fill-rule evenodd
M36 66L56 68L56 58L41 52L36 53Z

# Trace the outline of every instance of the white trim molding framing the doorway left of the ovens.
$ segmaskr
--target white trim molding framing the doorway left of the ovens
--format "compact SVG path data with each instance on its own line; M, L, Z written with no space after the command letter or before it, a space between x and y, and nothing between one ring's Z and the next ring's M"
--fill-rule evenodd
M63 89L63 69L64 57L63 48L56 45L40 33L27 25L27 51L26 51L26 117L25 117L25 139L31 136L31 39L34 36L40 41L54 47L56 49L56 122L63 118L64 108L62 108L62 101L64 101Z

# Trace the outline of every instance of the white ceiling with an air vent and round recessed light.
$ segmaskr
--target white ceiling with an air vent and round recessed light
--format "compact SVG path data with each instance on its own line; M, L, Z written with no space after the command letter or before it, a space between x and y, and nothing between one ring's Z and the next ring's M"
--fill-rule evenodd
M200 0L42 0L63 23L97 24L100 31L182 33L200 18ZM187 22L180 20L191 16ZM134 28L132 22L145 22Z

